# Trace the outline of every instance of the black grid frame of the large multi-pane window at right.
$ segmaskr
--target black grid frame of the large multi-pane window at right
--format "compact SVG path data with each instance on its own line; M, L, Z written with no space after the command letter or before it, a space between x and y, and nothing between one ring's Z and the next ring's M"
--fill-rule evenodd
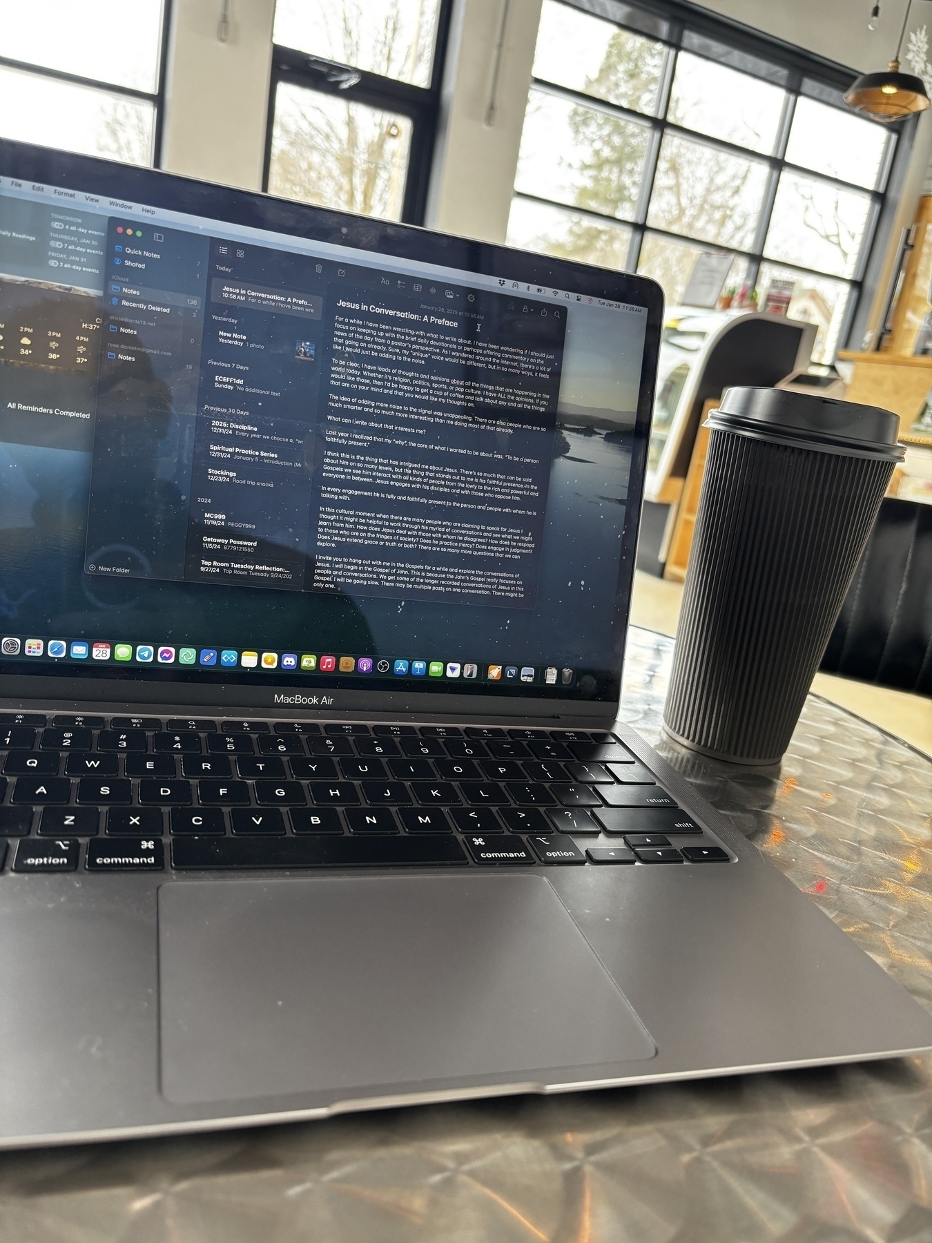
M793 124L797 101L800 96L814 98L818 102L825 103L828 107L834 107L833 103L824 97L820 98L819 94L811 89L804 89L804 81L808 80L815 86L828 87L831 93L841 93L850 86L852 77L855 76L854 71L846 70L844 66L836 65L831 61L823 60L821 57L810 55L803 48L794 47L790 44L770 39L767 35L759 35L756 31L749 30L747 26L742 26L741 24L727 17L712 15L708 11L693 7L692 5L682 2L682 0L633 0L630 5L624 2L624 0L557 0L557 2L568 9L575 9L589 16L600 17L616 25L621 30L629 30L635 35L640 35L661 44L664 47L664 62L660 71L656 112L652 116L637 112L636 109L628 108L621 104L611 103L606 99L585 94L582 91L575 91L569 87L548 82L542 78L533 76L531 78L529 89L532 92L537 91L551 96L552 98L592 108L596 112L603 112L606 116L616 117L619 121L634 122L650 131L637 203L634 213L631 214L631 219L623 219L621 216L609 216L574 204L558 203L553 199L527 194L517 189L512 190L512 199L519 199L544 206L553 206L558 210L572 211L578 216L584 216L594 221L609 225L616 224L630 229L631 237L624 268L629 272L637 271L637 264L640 261L645 236L655 235L665 241L680 242L687 246L693 246L697 250L727 251L738 259L743 259L747 264L746 281L751 288L757 286L761 266L764 264L772 267L785 268L790 272L799 272L804 276L840 282L850 290L845 306L845 313L839 326L838 344L835 349L844 348L852 336L855 323L861 324L865 319L866 310L864 303L870 302L874 292L872 286L876 283L877 252L884 250L884 245L887 240L886 235L889 234L891 191L895 194L896 184L902 180L903 168L908 160L912 145L915 118L905 124L884 127L885 134L887 134L891 140L887 142L886 145L876 186L874 189L867 189L866 186L855 185L854 183L844 181L840 178L826 175L815 169L804 168L803 165L792 163L787 159L787 145L789 142L790 127ZM630 20L633 12L644 16L645 20L642 25L637 25ZM629 20L625 20L625 17ZM654 30L647 29L651 25L651 19L656 22ZM768 80L763 75L749 75L751 77L758 77L761 81L772 81L773 85L779 86L784 92L777 139L770 154L754 152L749 148L741 147L724 139L712 138L708 134L688 129L687 127L667 119L678 53L683 51L690 56L710 61L710 63L713 65L723 63L722 61L717 61L708 52L703 52L695 46L685 46L683 36L687 31L691 35L698 35L708 39L715 44L724 45L738 53L746 53L758 61L764 61L775 70L782 71L782 82ZM728 67L734 68L736 66L732 65ZM743 70L742 72L748 71ZM844 109L839 108L839 111ZM696 142L706 147L711 147L724 154L737 155L742 159L757 162L767 169L765 188L761 199L761 209L754 230L754 237L749 247L724 246L720 242L703 241L691 234L677 234L657 225L647 224L660 149L666 133L676 135L677 138L683 138L687 142ZM816 268L805 267L802 264L787 262L780 259L768 257L764 254L764 245L770 227L777 190L784 170L790 174L800 174L802 177L821 185L829 185L839 190L861 194L869 199L867 218L865 220L857 262L850 276L836 276L831 272L820 272ZM895 204L892 205L895 206Z

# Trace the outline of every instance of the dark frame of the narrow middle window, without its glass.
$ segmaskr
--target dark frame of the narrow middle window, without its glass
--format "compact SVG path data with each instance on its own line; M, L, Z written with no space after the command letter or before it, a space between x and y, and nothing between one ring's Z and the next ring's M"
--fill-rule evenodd
M268 112L266 114L266 143L262 159L262 190L268 193L272 169L272 134L275 129L275 103L280 83L299 86L319 94L337 96L370 108L399 112L411 121L411 145L408 153L405 190L401 200L399 224L423 225L427 206L431 165L440 121L440 102L450 42L450 22L454 0L440 0L437 29L434 40L434 63L430 85L426 87L383 77L369 70L342 65L313 52L301 52L293 47L272 45L272 71L268 82ZM359 81L349 87L327 80L328 70L352 70ZM329 204L323 204L329 206ZM336 209L334 209L336 210ZM342 210L342 209L340 209Z

